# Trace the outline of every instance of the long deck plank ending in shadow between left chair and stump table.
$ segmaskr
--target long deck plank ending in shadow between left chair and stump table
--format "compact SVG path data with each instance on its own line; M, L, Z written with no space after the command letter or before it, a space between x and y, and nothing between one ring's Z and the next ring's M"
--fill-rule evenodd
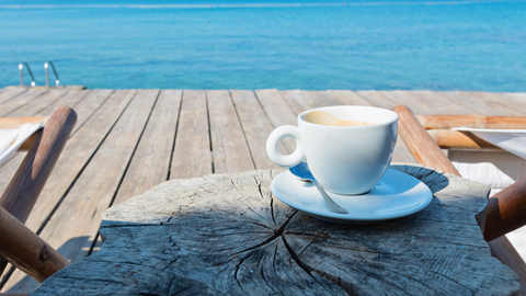
M102 212L107 208L116 193L157 100L157 96L142 93L148 91L137 92L137 98L129 103L39 234L41 238L57 248L59 253L71 262L84 258L90 251L99 232ZM14 287L22 278L23 285ZM4 289L14 287L10 292L23 293L34 288L35 284L33 280L26 280L22 273L15 272ZM23 289L19 286L23 286Z

